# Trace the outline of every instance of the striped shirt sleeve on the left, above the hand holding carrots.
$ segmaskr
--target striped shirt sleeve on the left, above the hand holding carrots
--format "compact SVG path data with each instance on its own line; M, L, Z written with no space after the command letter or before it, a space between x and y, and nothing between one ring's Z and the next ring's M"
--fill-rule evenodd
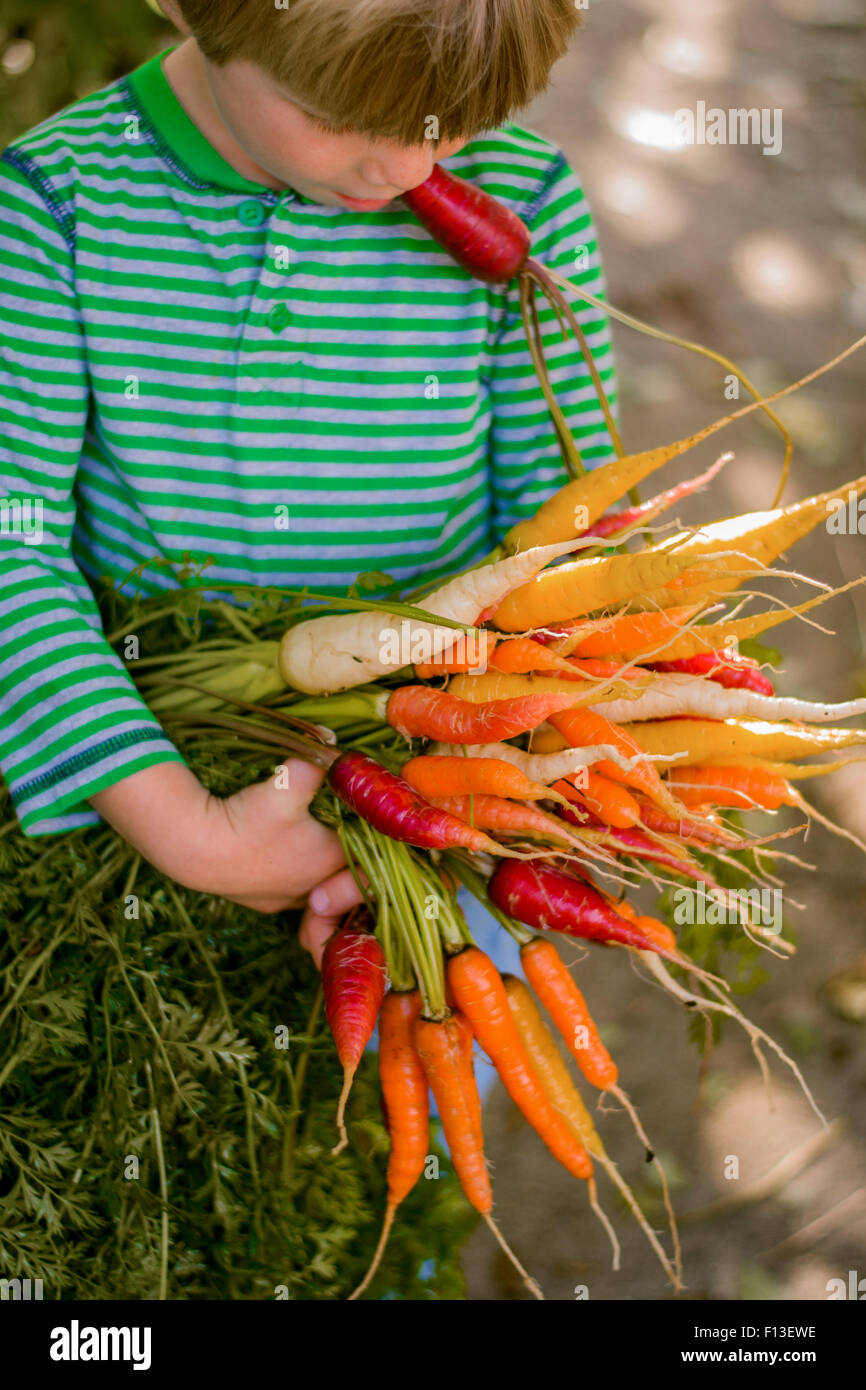
M71 225L14 150L0 206L0 769L22 828L40 835L97 824L86 796L182 758L72 559L89 381Z

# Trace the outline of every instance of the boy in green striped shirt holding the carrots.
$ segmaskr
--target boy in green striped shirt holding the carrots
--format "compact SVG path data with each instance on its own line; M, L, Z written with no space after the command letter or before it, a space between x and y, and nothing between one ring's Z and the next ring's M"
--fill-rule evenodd
M471 564L563 481L514 286L455 265L399 199L441 160L528 222L534 254L603 291L564 157L503 124L578 11L160 3L185 42L0 160L0 491L40 527L39 543L0 538L1 767L28 834L101 816L188 887L306 903L318 958L356 901L309 815L320 774L292 760L289 791L210 796L86 581L188 553L218 582L338 592L384 569L409 585ZM581 321L610 384L607 325ZM548 332L598 461L587 368ZM146 591L165 574L145 571Z

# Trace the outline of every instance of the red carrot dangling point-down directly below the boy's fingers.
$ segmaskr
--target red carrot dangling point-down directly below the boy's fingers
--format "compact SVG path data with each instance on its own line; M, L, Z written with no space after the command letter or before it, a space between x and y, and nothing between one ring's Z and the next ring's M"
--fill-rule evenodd
M385 952L370 931L367 915L350 915L328 938L321 960L325 1017L343 1068L343 1088L336 1108L341 1137L335 1154L349 1143L343 1119L346 1101L361 1054L373 1037L385 980Z

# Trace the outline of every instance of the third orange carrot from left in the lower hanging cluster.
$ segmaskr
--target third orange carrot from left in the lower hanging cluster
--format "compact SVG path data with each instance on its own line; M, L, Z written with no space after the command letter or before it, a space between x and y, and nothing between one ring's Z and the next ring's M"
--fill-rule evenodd
M473 1033L524 1118L563 1168L574 1177L591 1177L592 1161L587 1150L569 1133L532 1070L493 962L478 947L467 947L450 956L446 974L457 1008L468 1019Z

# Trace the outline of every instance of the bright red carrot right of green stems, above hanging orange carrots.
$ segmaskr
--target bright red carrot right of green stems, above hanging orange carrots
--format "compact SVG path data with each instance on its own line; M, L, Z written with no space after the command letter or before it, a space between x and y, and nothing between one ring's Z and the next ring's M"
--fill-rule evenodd
M637 951L657 951L638 926L614 912L587 883L562 869L532 860L496 866L488 884L491 901L506 916L542 931L564 931L582 941L616 942ZM667 951L676 949L670 935Z

